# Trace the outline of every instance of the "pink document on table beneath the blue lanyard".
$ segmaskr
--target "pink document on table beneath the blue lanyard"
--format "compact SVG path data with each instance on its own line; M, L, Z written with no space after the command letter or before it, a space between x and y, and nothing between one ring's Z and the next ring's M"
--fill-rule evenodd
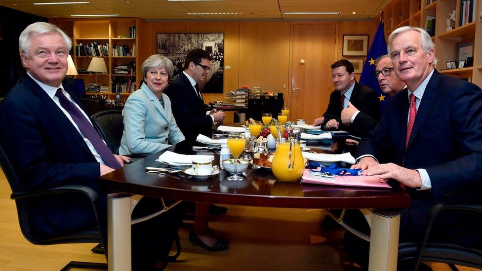
M320 173L320 172L318 172ZM305 169L301 182L304 184L318 184L330 186L350 186L350 187L370 187L370 188L385 188L391 189L386 180L375 176L353 176L343 175L335 176L334 178L323 177L310 169Z

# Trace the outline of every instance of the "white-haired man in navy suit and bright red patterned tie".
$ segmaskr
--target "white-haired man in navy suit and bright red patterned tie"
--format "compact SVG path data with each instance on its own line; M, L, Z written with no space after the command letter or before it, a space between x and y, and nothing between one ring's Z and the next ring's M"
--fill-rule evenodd
M401 27L388 41L395 73L407 88L390 99L382 120L360 142L353 168L395 180L410 194L400 241L418 241L434 204L482 203L482 91L435 70L434 43L425 30ZM441 215L431 239L480 249L481 221L463 212Z

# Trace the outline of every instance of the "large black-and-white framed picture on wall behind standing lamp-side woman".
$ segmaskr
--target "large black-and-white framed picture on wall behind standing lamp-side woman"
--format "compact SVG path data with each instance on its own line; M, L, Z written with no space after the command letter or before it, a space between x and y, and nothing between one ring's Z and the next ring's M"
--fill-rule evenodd
M223 93L224 85L224 33L158 33L157 53L168 57L174 64L174 74L169 81L177 78L184 70L184 61L191 49L201 48L211 57L211 70L202 92Z

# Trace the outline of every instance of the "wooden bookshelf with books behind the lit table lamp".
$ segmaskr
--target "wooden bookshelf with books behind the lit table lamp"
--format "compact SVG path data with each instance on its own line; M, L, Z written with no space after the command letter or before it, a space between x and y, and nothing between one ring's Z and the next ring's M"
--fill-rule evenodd
M117 83L129 82L132 91L139 88L142 80L142 63L139 63L137 53L137 30L141 23L139 18L52 19L49 22L59 26L73 39L72 57L78 72L88 68L93 57L91 51L95 50L92 49L92 44L94 47L105 46L101 55L99 50L102 50L102 47L97 47L94 54L104 59L108 72L97 76L79 73L76 78L83 78L85 84L95 83L97 80L97 83L108 86L109 90L102 91L102 94L107 94L110 99L115 99ZM80 44L90 48L84 50L82 47L76 51ZM94 95L98 92L87 94ZM129 94L121 93L121 96L126 98Z

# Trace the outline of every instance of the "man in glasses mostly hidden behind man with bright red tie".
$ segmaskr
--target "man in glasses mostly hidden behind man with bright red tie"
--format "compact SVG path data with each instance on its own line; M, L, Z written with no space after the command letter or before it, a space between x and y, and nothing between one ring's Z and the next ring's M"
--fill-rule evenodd
M383 93L390 97L400 92L406 86L406 84L395 75L393 70L392 60L388 54L380 56L375 60L375 73L373 76L378 80L378 84ZM352 121L355 114L357 115ZM345 125L353 123L353 125L361 127L360 129L366 131L366 133L373 130L378 123L377 119L359 111L352 103L349 103L348 107L341 112L341 121ZM358 142L352 139L347 139L347 143L358 145Z

